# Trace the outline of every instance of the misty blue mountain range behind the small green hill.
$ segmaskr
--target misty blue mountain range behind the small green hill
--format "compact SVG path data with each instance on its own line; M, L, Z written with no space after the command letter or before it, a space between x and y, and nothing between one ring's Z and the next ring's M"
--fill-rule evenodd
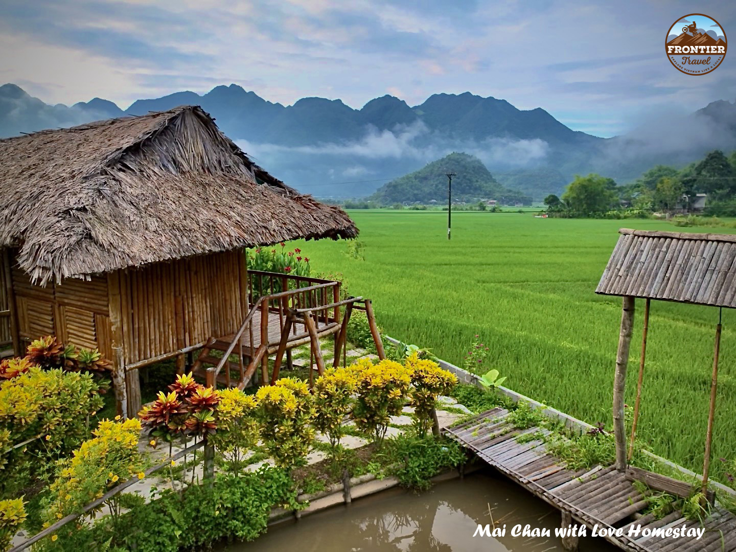
M542 108L519 110L469 92L434 94L415 106L382 96L353 109L316 97L285 106L238 85L138 99L121 110L100 98L47 105L7 84L0 86L0 138L183 104L201 105L264 168L318 197L368 196L432 160L467 152L500 185L541 199L559 194L575 174L601 172L625 183L657 163L684 165L708 149L736 146L736 104L729 102L714 102L682 121L598 138L566 127Z

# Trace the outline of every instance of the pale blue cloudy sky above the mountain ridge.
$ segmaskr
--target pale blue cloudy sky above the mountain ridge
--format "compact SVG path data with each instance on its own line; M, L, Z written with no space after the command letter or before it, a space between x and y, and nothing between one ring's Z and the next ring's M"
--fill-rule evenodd
M544 107L609 136L653 113L736 99L736 51L710 74L665 57L704 12L736 37L736 2L562 0L0 0L0 84L47 103L203 93L235 82L274 102L359 108L471 91Z

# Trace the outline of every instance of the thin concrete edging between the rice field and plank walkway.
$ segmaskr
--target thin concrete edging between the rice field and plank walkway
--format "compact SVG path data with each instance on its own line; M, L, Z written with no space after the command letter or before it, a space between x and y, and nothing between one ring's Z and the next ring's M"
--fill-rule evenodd
M394 339L389 336L383 336L383 337L386 338L386 340L388 340L389 342L392 342L394 345L403 344L398 339ZM443 361L441 358L437 359L437 364L439 364L439 366L442 367L443 369L446 369L448 372L452 372L454 375L456 375L458 380L461 383L467 383L469 385L474 385L478 387L479 389L486 389L485 386L480 382L480 378L478 378L478 375L475 375L472 372L468 372L466 369L463 369L461 367L455 366L455 364L450 364L447 361ZM548 418L551 418L552 420L557 420L559 422L562 422L563 424L565 424L565 427L568 429L571 429L573 431L579 431L580 433L585 433L593 428L593 426L587 422L578 420L577 418L570 416L570 414L565 414L565 412L559 411L556 408L552 408L551 406L547 406L545 404L539 403L539 401L531 399L521 393L517 393L513 391L512 389L509 389L504 386L498 386L496 387L496 389L498 389L498 392L500 392L501 394L504 394L506 395L506 397L509 397L511 400L513 400L514 403L523 401L525 403L529 403L532 406L532 408L543 408L542 414L544 414ZM696 478L697 480L702 480L703 478L702 474L698 475L692 470L688 470L686 467L681 466L679 464L675 464L673 461L670 461L666 458L662 458L662 456L654 454L648 450L644 450L643 453L646 456L649 456L649 458L657 460L661 462L662 464L665 464L666 466L673 468L673 470L679 471L680 473L684 473L685 475L690 475L690 477ZM729 495L736 496L736 490L732 489L729 486L723 485L722 483L719 483L718 481L712 481L712 480L710 481L710 484L712 486L715 486L717 489L723 492L729 493Z

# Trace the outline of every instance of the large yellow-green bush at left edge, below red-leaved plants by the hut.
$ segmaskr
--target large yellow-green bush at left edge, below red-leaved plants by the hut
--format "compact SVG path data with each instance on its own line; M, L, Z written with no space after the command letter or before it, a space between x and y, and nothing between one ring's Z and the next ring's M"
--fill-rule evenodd
M38 367L0 383L0 496L42 476L89 435L87 418L102 408L98 389L88 373Z

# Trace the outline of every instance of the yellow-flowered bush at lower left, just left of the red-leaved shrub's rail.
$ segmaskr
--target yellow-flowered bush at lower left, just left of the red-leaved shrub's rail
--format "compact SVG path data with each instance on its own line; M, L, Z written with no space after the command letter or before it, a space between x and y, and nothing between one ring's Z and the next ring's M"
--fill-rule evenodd
M71 458L58 461L56 479L49 486L44 507L46 526L78 512L118 482L141 473L146 461L138 450L140 434L141 422L137 419L102 420L93 431L93 439L83 442ZM120 514L118 498L107 501L115 517Z

